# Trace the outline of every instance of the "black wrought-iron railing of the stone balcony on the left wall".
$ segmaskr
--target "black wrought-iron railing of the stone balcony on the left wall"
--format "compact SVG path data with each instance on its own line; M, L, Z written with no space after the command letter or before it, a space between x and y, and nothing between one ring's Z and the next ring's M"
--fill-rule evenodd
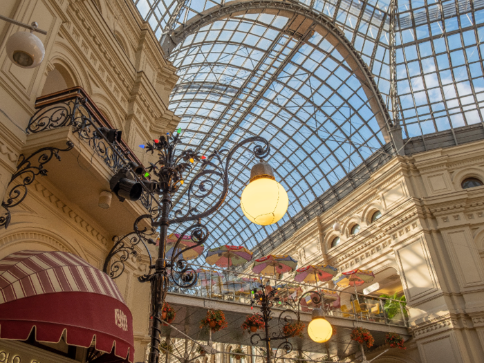
M113 129L113 126L81 87L38 97L35 109L37 111L28 122L27 133L72 127L80 140L89 144L114 173L127 167L129 162L142 166L124 140L111 143L102 135L101 127ZM140 202L151 210L151 196L146 190L143 190Z

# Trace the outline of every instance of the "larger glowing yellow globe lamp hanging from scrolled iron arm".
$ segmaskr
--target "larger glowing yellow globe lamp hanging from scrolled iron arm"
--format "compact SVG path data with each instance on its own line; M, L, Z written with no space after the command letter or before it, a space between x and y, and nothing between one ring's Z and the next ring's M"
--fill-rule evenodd
M249 185L242 192L243 214L252 223L270 225L286 214L288 204L288 194L274 178L272 167L267 162L254 165Z

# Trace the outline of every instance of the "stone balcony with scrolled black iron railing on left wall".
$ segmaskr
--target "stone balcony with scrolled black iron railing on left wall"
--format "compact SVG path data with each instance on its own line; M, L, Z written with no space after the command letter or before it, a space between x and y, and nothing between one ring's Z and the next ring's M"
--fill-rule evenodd
M110 236L131 232L135 219L149 213L152 201L147 192L136 202L122 203L113 195L111 207L98 206L100 192L110 190L109 180L119 169L128 162L141 165L126 142L110 143L102 136L100 127L113 127L80 87L39 97L35 109L26 130L24 155L44 147L66 149L72 142L70 151L59 152L61 162L51 160L45 165L59 199L80 207Z

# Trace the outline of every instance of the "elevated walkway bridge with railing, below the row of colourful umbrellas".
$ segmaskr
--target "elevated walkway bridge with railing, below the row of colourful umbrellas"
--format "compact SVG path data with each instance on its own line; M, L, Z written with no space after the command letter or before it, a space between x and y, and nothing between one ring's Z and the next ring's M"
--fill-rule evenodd
M225 313L228 322L227 328L212 333L212 341L232 346L241 344L250 346L250 333L243 333L242 324L247 315L257 313L258 306L251 309L252 288L278 288L277 296L280 303L274 306L274 317L270 323L270 334L279 335L283 321L279 323L279 316L288 308L288 303L299 301L299 297L306 296L301 300L301 321L308 325L311 320L313 304L311 294L305 292L318 290L324 300L317 307L322 307L326 319L335 328L335 335L328 342L328 351L331 355L346 357L359 351L359 346L352 342L350 333L353 328L361 326L371 331L375 338L375 346L384 344L386 333L398 333L405 339L410 337L407 330L408 313L402 301L380 299L370 295L355 294L345 291L322 288L321 286L295 283L292 277L288 279L261 279L260 277L221 269L207 269L205 266L197 270L198 282L189 289L171 286L167 295L167 302L176 310L176 319L173 323L179 330L170 326L164 326L162 335L171 338L185 338L180 331L192 337L192 339L208 341L210 339L205 329L200 329L200 321L205 317L207 309L220 309ZM356 299L357 298L357 299ZM358 302L355 302L358 301ZM391 309L384 309L384 306ZM387 313L389 312L390 313ZM395 313L395 311L397 313ZM392 313L393 312L393 313ZM283 317L290 316L295 319L295 313L286 312ZM294 350L304 352L326 353L326 344L313 342L306 333L304 337L292 337L289 339ZM272 348L277 348L283 340L272 342ZM265 342L259 342L258 346L265 346ZM281 354L281 353L279 353ZM278 354L278 356L279 356Z

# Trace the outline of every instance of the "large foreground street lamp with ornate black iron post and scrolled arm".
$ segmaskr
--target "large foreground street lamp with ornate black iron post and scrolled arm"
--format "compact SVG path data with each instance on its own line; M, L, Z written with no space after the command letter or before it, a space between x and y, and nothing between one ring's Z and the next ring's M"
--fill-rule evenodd
M209 231L207 227L201 222L202 218L210 216L218 210L219 207L225 201L225 197L228 193L229 187L229 175L228 168L234 153L241 147L247 147L248 144L256 143L252 149L254 156L261 160L269 155L270 147L269 143L265 138L254 136L252 138L247 138L242 140L237 145L232 147L230 151L223 149L220 151L214 151L210 156L201 156L192 149L185 149L177 152L177 145L180 144L180 132L178 129L177 133L167 133L167 136L160 136L159 139L153 140L153 142L147 142L146 145L140 145L142 149L147 152L158 153L158 161L150 163L150 167L147 168L149 172L149 177L151 180L143 180L142 187L147 190L151 195L158 194L159 198L153 196L153 202L156 204L155 207L151 208L150 214L145 214L138 217L134 223L134 233L136 236L122 237L115 241L115 245L111 252L109 252L108 257L104 263L104 271L107 270L109 261L115 254L118 254L118 261L111 263L111 268L109 274L111 277L115 278L124 270L124 261L126 261L129 254L136 254L134 246L139 243L139 241L147 241L148 243L153 243L153 239L149 236L153 236L156 230L159 229L160 232L160 245L158 249L158 257L155 263L149 266L149 272L139 278L141 282L149 281L151 283L151 316L153 317L153 325L151 328L151 348L149 353L148 362L156 363L158 362L159 356L159 344L160 344L160 331L162 326L162 320L160 319L161 310L163 304L165 303L165 298L167 295L167 290L169 286L169 279L167 276L167 268L170 269L172 281L181 288L190 288L196 283L196 272L189 266L187 261L182 259L182 254L190 248L196 248L196 246L201 245L207 241L209 236ZM194 162L201 162L201 169L191 180L187 186L187 209L185 212L181 210L174 210L174 205L172 198L180 186L185 183L183 179L183 174L191 169ZM269 194L272 192L271 188L277 189L277 196L286 195L286 201L282 203L282 207L276 203L277 216L274 212L274 208L270 213L273 212L271 218L264 219L264 223L259 224L271 224L279 220L283 214L286 213L288 202L286 191L281 187L281 185L275 182L274 175L272 174L272 169L267 163L263 163L266 171L270 169L269 174L259 175L259 180L267 179L272 183L272 187L268 185L263 185L265 188L263 193ZM260 165L257 164L257 165ZM256 166L257 166L256 165ZM257 168L256 168L257 169ZM129 171L133 174L134 171ZM146 175L148 177L148 175ZM252 176L252 175L251 175ZM133 175L133 179L138 180L136 175ZM254 181L251 178L251 183L249 185L250 193L260 194L259 187L254 187L252 183ZM216 192L216 183L220 183L222 186L222 192L220 194L214 194ZM275 184L274 184L275 183ZM115 183L113 183L115 185ZM131 190L131 189L130 189ZM245 193L245 191L244 191ZM274 193L272 193L274 194ZM199 211L194 205L194 199L204 199L215 196L214 203L212 207L209 207L205 211ZM284 206L285 203L285 206ZM274 207L274 203L272 204ZM171 218L171 212L174 211L174 218ZM266 213L266 212L263 212ZM267 214L267 213L266 213ZM138 223L143 219L147 219L151 225L151 230L138 228ZM270 219L270 221L268 221ZM187 227L185 231L180 233L180 238L176 241L174 245L174 253L171 257L171 261L165 259L166 243L168 236L168 227L173 224L180 224L186 222L193 222L192 225ZM186 234L190 234L192 241L195 244L190 248L185 248L183 250L178 249L181 239ZM149 251L148 251L149 253ZM151 256L150 256L151 259ZM107 271L106 271L107 272Z

